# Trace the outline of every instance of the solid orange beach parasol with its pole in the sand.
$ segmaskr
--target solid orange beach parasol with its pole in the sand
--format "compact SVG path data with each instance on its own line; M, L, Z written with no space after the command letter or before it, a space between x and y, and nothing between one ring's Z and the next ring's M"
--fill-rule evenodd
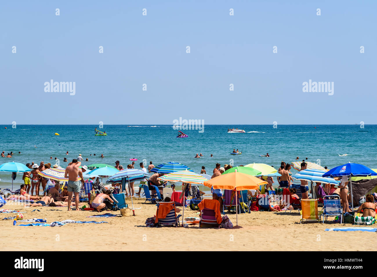
M230 190L249 190L259 189L259 185L267 184L267 182L257 177L242 173L230 172L221 174L211 180L205 181L204 186L213 187L213 189L230 189ZM236 225L238 225L238 211L236 205Z

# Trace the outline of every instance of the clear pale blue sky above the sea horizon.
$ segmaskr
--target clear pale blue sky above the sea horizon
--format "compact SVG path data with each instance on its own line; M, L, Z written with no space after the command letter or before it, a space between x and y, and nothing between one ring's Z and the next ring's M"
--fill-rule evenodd
M375 1L176 2L1 2L0 123L377 123Z

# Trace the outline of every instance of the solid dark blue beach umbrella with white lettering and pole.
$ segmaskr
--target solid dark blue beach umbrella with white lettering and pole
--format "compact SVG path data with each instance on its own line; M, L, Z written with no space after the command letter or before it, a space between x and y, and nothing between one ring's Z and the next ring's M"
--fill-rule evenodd
M376 176L377 173L367 166L358 163L346 163L342 166L337 166L330 169L328 172L322 175L322 177L340 177L349 176L349 186L351 188L351 200L353 209L353 194L352 194L352 180L353 176Z

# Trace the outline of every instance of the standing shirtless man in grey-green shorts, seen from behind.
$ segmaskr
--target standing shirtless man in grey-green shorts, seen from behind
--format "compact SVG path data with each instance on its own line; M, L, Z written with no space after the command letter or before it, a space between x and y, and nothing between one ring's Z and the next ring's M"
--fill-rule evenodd
M78 175L81 177L81 183L84 186L84 178L83 172L78 170L81 161L77 161L77 159L72 160L72 164L66 167L66 172L64 174L64 178L68 178L68 210L70 211L70 204L72 202L72 193L75 192L75 203L76 207L78 207L78 193L80 192L80 183L78 181ZM78 208L76 208L79 211Z

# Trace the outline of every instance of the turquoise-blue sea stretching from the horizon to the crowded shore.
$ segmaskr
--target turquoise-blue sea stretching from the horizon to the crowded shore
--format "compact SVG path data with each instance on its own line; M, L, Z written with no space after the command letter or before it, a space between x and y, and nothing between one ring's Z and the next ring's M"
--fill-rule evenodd
M5 155L14 152L12 158L0 158L0 163L15 161L20 163L55 164L66 167L68 161L81 154L83 164L107 163L115 165L120 160L123 167L130 164L130 158L137 158L135 168L140 162L160 163L174 161L191 167L200 173L205 166L207 174L212 175L216 163L234 166L249 163L267 163L275 168L281 161L308 161L328 166L331 169L349 161L376 168L377 125L205 125L204 132L182 130L188 138L177 139L177 130L172 125L104 125L100 131L107 136L95 136L98 125L3 125L0 128L0 152ZM7 127L7 129L5 129ZM227 133L228 128L244 129L246 133ZM54 135L55 132L60 134ZM35 148L37 146L37 148ZM233 148L242 155L230 155ZM21 154L18 154L18 152ZM65 153L69 151L69 155ZM259 155L270 154L270 157ZM204 157L194 158L196 153ZM90 156L92 154L92 156ZM96 154L96 156L93 156ZM104 158L101 158L101 154ZM213 154L213 157L210 157ZM348 154L340 157L339 155ZM52 156L52 160L50 157ZM295 169L291 169L294 174ZM9 187L11 174L0 173L0 187ZM23 183L22 174L14 181L15 187Z

